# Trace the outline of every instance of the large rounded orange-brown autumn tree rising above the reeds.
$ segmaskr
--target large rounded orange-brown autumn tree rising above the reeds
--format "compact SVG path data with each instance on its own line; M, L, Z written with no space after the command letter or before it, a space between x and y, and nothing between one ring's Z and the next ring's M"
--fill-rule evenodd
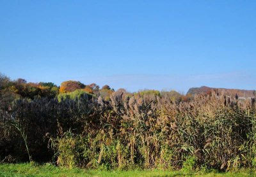
M68 93L68 92L74 92L77 89L84 88L85 85L81 83L80 81L63 81L60 86L60 93Z

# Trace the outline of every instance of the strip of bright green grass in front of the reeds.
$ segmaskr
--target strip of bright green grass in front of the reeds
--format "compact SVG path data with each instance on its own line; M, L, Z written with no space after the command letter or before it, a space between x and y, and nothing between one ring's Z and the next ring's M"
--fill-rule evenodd
M161 170L99 171L86 169L66 169L51 164L0 164L0 176L256 176L255 171L243 169L228 173L201 173Z

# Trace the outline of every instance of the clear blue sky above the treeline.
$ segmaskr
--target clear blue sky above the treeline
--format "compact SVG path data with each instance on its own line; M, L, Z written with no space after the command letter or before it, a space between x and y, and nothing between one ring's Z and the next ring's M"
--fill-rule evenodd
M0 72L139 89L256 87L256 1L0 0Z

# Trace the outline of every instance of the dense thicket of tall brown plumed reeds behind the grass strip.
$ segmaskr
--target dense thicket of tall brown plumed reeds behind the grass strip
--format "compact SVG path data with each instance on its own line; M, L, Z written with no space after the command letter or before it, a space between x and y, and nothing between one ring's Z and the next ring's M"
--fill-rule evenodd
M218 90L194 97L120 89L102 98L99 87L98 94L77 93L1 106L0 160L121 169L256 166L254 98Z

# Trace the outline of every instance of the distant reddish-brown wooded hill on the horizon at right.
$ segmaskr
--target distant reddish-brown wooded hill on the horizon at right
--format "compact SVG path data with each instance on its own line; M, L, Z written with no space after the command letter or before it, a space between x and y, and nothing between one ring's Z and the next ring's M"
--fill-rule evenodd
M218 92L219 94L225 94L226 96L235 97L236 94L238 97L255 97L255 90L240 90L240 89L230 89L230 88L211 88L211 87L193 87L189 88L187 94L209 94L212 90Z

